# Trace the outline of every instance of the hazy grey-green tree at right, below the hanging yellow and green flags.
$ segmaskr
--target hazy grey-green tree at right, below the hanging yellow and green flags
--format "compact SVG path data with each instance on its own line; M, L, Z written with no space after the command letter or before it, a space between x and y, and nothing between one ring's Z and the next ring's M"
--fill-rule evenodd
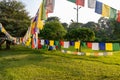
M100 26L100 30L97 31L96 37L101 38L102 41L114 40L114 23L108 18L101 17L98 20L98 24Z

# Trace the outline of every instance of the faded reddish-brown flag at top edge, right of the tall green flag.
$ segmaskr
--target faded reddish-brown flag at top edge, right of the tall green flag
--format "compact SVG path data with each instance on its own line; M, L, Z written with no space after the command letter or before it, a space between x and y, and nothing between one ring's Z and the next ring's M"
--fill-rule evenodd
M46 0L45 6L47 13L53 13L54 4L55 4L55 0Z

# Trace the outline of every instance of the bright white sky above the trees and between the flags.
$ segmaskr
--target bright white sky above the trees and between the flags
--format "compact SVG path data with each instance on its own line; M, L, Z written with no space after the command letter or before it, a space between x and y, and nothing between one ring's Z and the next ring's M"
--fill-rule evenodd
M19 0L25 5L25 9L29 12L31 17L34 17L42 0ZM120 0L98 0L104 4L109 5L117 10L120 10ZM76 18L76 5L67 0L55 0L54 12L49 13L48 17L57 16L61 22L71 23L77 21ZM85 6L79 9L78 22L87 23L89 21L97 22L101 17L100 14L95 13L95 9L87 7L87 0L85 0Z

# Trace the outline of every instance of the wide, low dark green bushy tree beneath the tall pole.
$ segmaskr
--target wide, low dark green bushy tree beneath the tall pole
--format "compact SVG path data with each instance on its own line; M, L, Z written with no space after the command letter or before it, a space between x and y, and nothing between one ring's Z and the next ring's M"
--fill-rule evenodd
M95 34L88 28L76 28L68 31L66 38L68 40L93 41Z

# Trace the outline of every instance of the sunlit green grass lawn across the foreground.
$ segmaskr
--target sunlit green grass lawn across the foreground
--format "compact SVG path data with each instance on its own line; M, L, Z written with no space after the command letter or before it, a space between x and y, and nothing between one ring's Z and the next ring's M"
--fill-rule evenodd
M0 51L0 80L120 80L120 51L93 57L13 46Z

